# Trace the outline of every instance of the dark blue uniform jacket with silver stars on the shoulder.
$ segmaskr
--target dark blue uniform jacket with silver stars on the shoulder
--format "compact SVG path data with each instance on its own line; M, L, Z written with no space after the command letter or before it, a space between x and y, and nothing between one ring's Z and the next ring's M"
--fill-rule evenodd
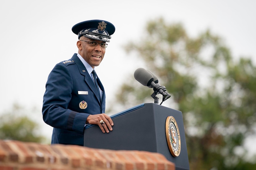
M83 146L87 117L105 113L105 91L98 78L97 82L103 91L101 102L90 74L76 53L70 60L60 62L53 68L46 83L42 109L43 120L53 127L52 144ZM83 101L87 107L80 108L79 104Z

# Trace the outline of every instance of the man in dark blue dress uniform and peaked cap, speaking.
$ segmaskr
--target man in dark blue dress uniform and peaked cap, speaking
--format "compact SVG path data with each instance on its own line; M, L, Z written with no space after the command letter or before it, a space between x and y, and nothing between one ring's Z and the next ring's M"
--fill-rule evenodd
M56 64L49 74L43 96L43 120L53 127L52 144L83 146L86 124L97 124L103 133L114 125L105 114L105 91L95 73L115 26L103 20L77 23L72 31L78 35L78 53Z

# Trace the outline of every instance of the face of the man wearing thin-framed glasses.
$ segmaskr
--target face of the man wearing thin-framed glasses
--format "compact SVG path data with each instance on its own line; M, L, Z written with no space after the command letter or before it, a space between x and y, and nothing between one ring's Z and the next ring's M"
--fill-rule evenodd
M81 41L87 40L87 41ZM97 46L89 45L88 41L98 42ZM77 41L77 47L79 49L78 53L83 57L83 59L90 65L92 68L94 66L99 66L103 57L105 55L106 48L102 48L99 43L105 43L101 40L94 40L82 36L79 41Z

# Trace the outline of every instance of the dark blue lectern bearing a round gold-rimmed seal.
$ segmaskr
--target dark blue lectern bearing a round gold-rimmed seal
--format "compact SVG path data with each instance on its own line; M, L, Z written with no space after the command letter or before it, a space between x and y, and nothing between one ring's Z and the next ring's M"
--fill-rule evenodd
M86 125L84 146L112 150L158 152L175 164L189 169L182 113L155 103L143 103L110 116L110 133L97 125Z

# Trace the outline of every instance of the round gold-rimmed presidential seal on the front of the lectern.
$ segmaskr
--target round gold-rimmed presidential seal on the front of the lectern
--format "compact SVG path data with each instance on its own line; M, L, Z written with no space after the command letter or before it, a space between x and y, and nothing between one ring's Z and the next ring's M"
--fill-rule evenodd
M165 122L166 139L173 157L180 155L181 138L178 125L172 116L168 116Z

